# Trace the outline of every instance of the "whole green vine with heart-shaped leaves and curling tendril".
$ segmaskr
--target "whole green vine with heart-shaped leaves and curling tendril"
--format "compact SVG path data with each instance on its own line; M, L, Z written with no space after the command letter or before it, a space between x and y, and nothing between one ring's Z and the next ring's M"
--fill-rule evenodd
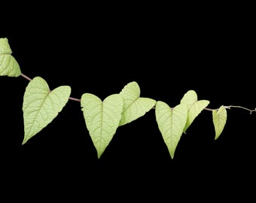
M215 128L215 140L223 132L227 122L227 109L242 106L224 106L207 108L209 100L198 100L197 92L187 91L178 105L171 108L166 102L140 96L136 81L127 83L119 93L108 95L103 101L96 95L84 93L81 98L71 97L70 86L59 86L51 90L42 77L30 78L23 74L20 65L12 56L8 38L0 38L0 76L24 77L29 80L23 96L24 137L22 144L38 134L53 121L69 100L81 103L85 125L96 148L98 159L113 138L117 128L143 117L154 109L157 126L163 141L173 159L181 135L187 132L201 111L212 111Z

